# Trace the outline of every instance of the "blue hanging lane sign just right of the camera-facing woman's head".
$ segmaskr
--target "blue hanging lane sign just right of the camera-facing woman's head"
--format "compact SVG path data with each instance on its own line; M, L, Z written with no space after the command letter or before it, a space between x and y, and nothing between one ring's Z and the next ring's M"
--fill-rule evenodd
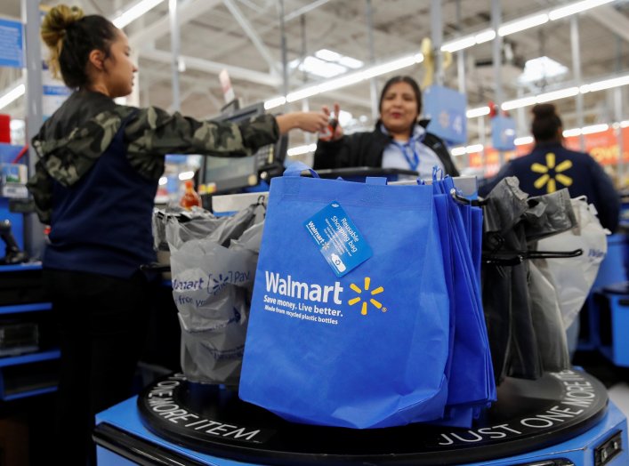
M453 144L467 141L467 98L464 93L441 85L423 91L423 115L431 120L427 130Z

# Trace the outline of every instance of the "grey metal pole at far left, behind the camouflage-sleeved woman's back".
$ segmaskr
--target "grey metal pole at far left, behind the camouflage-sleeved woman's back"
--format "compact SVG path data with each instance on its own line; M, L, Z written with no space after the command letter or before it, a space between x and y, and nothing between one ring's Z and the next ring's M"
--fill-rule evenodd
M26 141L39 132L43 123L42 106L42 53L39 37L39 2L21 0L22 23L24 24L24 49L26 55ZM35 173L36 152L28 148L28 173ZM24 215L24 244L31 257L40 258L44 246L44 228L35 213Z

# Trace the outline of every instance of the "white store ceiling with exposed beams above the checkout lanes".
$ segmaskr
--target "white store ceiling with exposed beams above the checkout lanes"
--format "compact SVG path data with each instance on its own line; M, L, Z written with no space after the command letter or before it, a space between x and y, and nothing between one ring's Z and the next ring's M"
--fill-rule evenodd
M503 0L503 22L515 20L566 4L558 0ZM44 1L42 4L56 4ZM86 13L115 16L122 0L81 0L73 2ZM424 37L431 36L428 0L372 0L375 61L420 52ZM444 40L491 27L489 0L444 0L442 3ZM190 116L215 116L224 104L218 70L230 68L233 87L244 104L269 99L282 92L282 47L278 0L180 0L181 56L186 70L181 73L181 111ZM457 8L458 6L458 8ZM457 12L457 9L459 12ZM300 60L320 49L370 62L367 28L367 2L364 0L284 0L287 60ZM139 52L139 91L141 105L173 108L171 36L164 1L141 19L125 28L133 49ZM20 17L20 0L4 0L0 15ZM582 82L612 75L629 74L629 0L616 0L578 16ZM504 37L502 80L504 100L521 95L547 92L575 83L572 70L570 18L548 22L536 28ZM568 68L558 78L535 84L518 84L525 61L548 56ZM445 84L458 88L457 53L445 70ZM194 58L187 59L187 57ZM468 107L477 108L495 99L492 43L476 45L464 52ZM376 79L378 90L394 74L409 74L418 81L425 68L418 64ZM0 89L19 77L16 70L0 70ZM321 78L303 71L289 74L289 90ZM623 108L629 104L629 90L622 92ZM363 82L309 99L310 108L338 101L362 125L371 126L370 84ZM577 125L575 98L558 100L567 127ZM609 123L617 119L613 92L590 92L584 96L585 124ZM304 100L291 104L299 109ZM14 117L23 116L23 99L4 108ZM279 108L278 108L279 109ZM627 119L627 110L621 116ZM528 108L519 114L520 134L526 133ZM362 118L360 118L362 116ZM470 125L471 141L477 138L475 122ZM294 143L302 141L295 134Z

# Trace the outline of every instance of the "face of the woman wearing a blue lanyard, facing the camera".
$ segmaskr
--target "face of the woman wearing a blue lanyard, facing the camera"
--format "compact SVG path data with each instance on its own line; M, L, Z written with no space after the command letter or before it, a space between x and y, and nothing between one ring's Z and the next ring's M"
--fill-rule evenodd
M418 114L417 100L411 85L403 81L391 84L380 106L380 119L387 131L391 134L410 134Z

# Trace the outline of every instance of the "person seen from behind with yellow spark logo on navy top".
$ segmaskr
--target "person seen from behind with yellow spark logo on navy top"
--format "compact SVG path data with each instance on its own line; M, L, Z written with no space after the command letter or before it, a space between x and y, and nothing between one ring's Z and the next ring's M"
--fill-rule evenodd
M607 173L589 154L563 147L563 125L554 105L538 104L532 111L535 148L527 156L504 165L479 189L480 196L487 196L506 176L517 177L520 189L529 196L568 188L570 197L585 196L596 207L603 227L610 231L617 229L620 197Z

